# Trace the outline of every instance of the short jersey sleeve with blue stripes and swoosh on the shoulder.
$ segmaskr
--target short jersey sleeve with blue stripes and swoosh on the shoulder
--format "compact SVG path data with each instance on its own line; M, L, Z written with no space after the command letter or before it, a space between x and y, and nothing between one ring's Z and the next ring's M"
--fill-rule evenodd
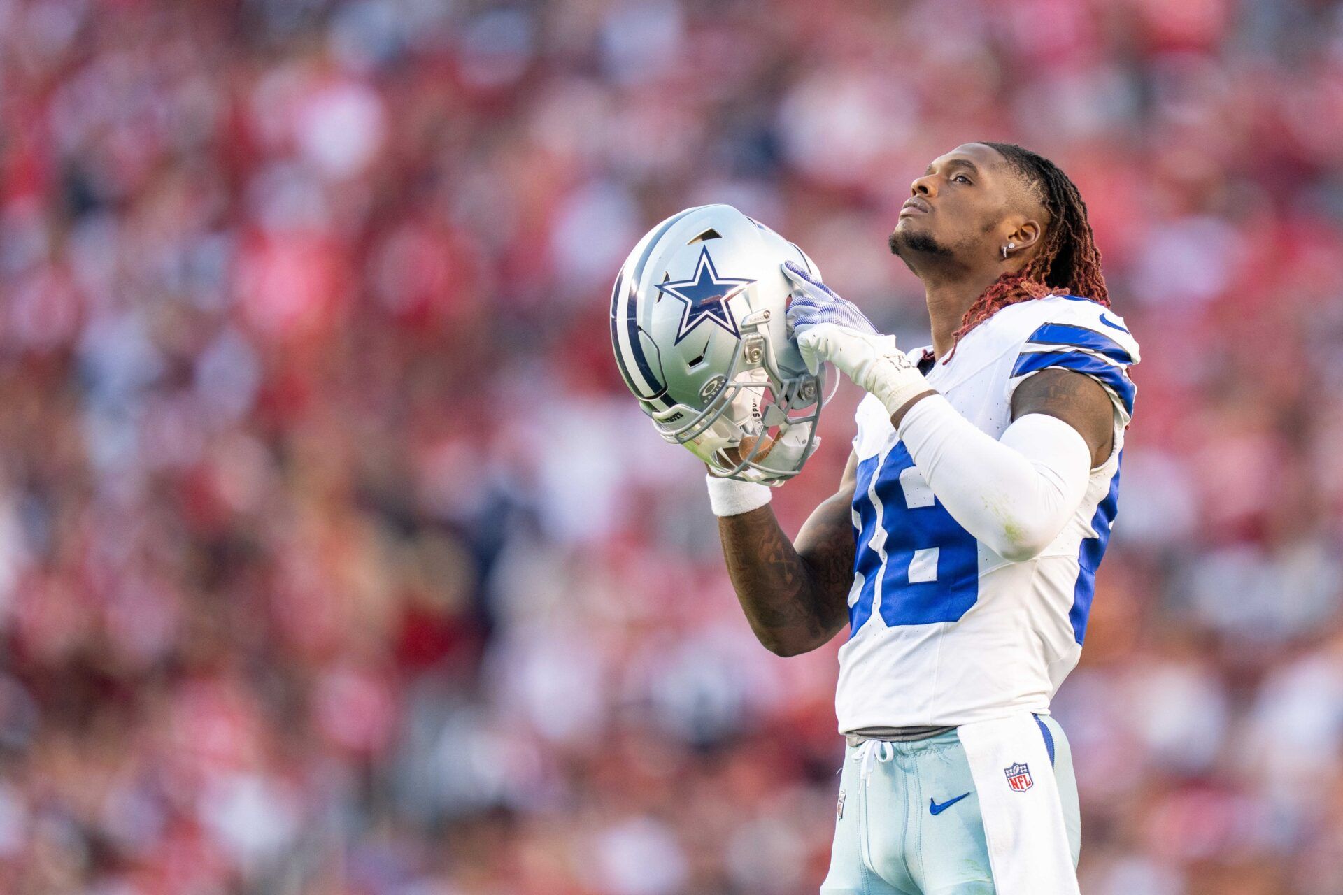
M1007 401L1017 386L1052 368L1073 370L1096 380L1115 404L1115 423L1123 429L1133 416L1138 386L1128 368L1139 361L1138 339L1123 318L1104 305L1068 299L1039 322L1022 342L1007 380Z

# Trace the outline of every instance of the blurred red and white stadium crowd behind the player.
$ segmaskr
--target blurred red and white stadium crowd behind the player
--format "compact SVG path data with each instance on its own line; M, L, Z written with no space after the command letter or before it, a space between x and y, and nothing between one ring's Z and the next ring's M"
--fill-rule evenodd
M752 639L608 290L727 201L919 344L988 138L1144 354L1082 891L1343 892L1340 133L1328 0L0 0L0 891L815 892L837 644Z

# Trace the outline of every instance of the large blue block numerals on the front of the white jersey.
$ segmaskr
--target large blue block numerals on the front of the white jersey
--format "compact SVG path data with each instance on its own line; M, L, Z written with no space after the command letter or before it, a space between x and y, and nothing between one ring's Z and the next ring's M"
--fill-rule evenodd
M862 576L862 589L849 608L851 637L872 616L877 580L881 580L881 620L889 628L956 621L979 598L979 543L951 518L941 501L911 507L901 474L913 468L913 458L897 443L881 460L868 458L858 464L853 507L860 531L854 550L854 573ZM877 478L872 487L873 475ZM927 484L917 479L924 491ZM913 487L913 486L912 486ZM878 513L868 491L881 503ZM885 533L878 553L872 538L877 526ZM936 553L933 553L936 550ZM882 557L885 554L885 557ZM917 564L916 564L917 560ZM917 568L911 581L911 566Z

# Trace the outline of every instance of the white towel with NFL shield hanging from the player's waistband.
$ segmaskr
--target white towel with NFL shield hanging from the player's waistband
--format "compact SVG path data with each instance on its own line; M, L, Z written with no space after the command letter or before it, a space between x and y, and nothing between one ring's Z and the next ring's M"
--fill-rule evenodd
M1078 895L1064 808L1035 718L956 729L970 761L998 895Z

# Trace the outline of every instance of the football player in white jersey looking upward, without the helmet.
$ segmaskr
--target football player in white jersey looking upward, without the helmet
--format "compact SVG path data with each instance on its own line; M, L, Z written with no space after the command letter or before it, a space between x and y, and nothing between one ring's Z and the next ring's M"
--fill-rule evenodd
M839 488L790 539L759 483L709 476L727 566L771 651L849 628L847 738L822 892L1077 892L1077 788L1050 696L1077 664L1119 495L1138 344L1053 162L967 144L911 187L890 250L932 346L896 348L802 266L807 366L868 392Z

